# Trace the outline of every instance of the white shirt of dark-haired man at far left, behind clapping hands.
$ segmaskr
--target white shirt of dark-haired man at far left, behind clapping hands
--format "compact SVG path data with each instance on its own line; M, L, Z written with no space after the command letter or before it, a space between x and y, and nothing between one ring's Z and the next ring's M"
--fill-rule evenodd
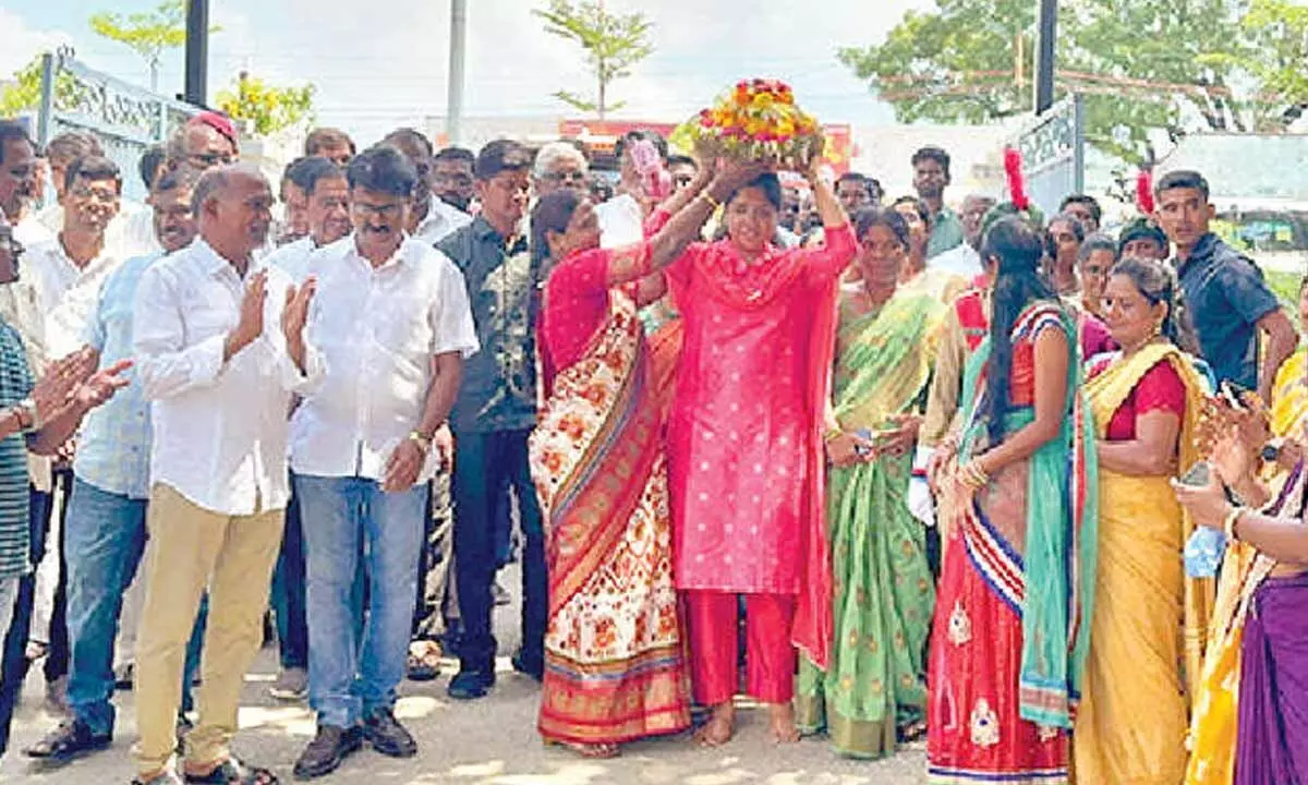
M82 347L99 288L122 259L106 243L99 256L78 267L56 237L29 249L24 262L44 314L46 355L50 360L67 357Z

